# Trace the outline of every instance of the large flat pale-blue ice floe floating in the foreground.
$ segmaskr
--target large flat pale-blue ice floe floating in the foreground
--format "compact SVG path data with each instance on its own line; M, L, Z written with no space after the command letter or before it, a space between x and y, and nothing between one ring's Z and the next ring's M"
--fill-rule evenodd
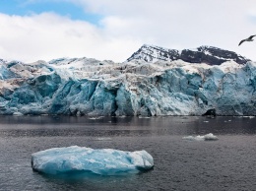
M101 175L122 175L139 173L153 166L153 157L144 150L125 152L71 146L32 154L32 169L48 174L89 171Z

